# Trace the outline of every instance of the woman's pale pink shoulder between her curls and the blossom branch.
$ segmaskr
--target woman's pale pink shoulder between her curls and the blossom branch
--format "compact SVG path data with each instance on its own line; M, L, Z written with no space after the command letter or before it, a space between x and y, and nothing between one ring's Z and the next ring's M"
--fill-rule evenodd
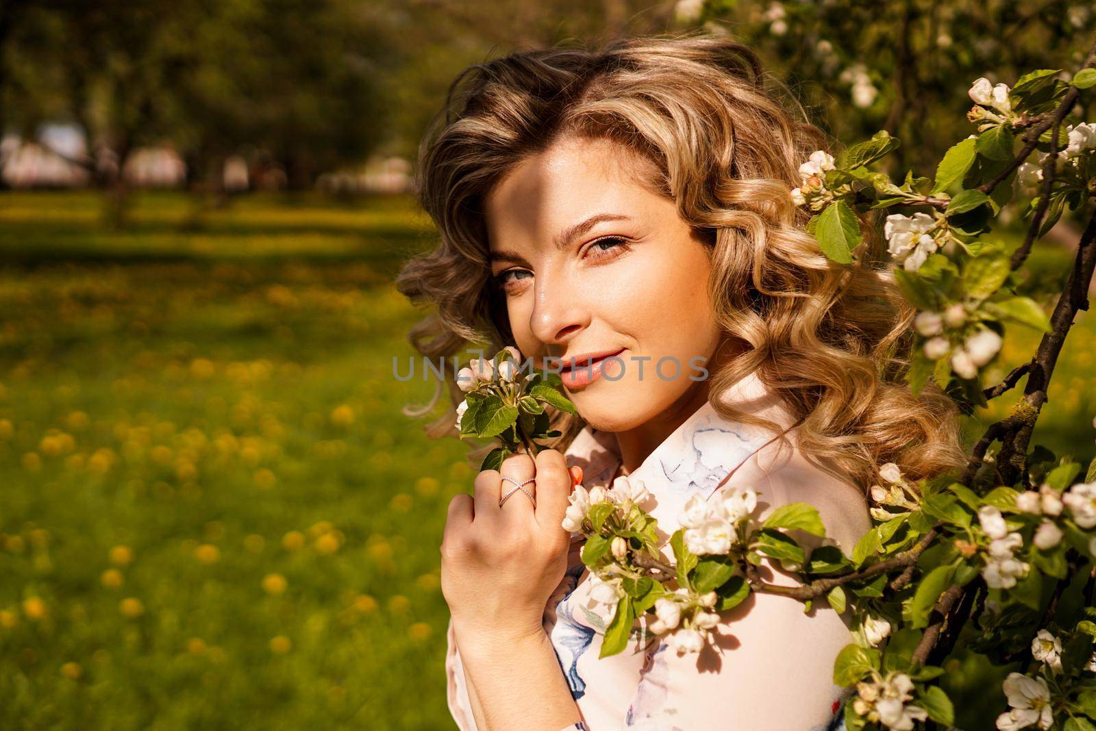
M727 487L752 488L758 493L764 511L758 517L780 505L804 502L819 512L826 536L836 540L849 555L860 537L871 529L866 490L849 480L829 460L809 459L795 438L776 438L765 444L734 471ZM803 542L811 536L797 532Z

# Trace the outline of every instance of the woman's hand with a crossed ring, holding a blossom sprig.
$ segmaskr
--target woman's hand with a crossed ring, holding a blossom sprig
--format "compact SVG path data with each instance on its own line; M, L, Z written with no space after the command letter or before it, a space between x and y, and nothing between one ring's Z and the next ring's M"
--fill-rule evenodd
M513 455L501 470L476 476L475 495L454 496L442 540L442 593L461 650L472 638L515 641L543 633L545 604L567 569L570 536L561 523L581 473L569 470L556 449L544 449L535 461ZM500 507L515 487L503 475L517 482L535 478L523 488L536 507L521 491Z

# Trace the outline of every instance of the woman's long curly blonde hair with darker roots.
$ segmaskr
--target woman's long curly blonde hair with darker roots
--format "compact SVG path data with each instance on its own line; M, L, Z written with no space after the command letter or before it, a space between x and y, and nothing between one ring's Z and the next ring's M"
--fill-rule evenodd
M650 162L644 183L707 243L718 321L745 345L712 375L709 400L721 415L779 431L715 398L756 373L799 420L804 455L833 460L865 490L886 462L912 480L959 468L956 404L935 384L914 396L903 381L916 311L882 261L877 219L861 221L855 261L835 263L804 229L811 213L789 196L802 161L835 147L801 106L781 102L789 96L751 48L705 32L522 50L468 67L420 146L416 190L441 242L397 278L413 302L436 305L411 344L444 362L469 343L493 353L514 342L505 301L489 285L484 196L516 162L566 136L610 139ZM457 404L455 380L448 390ZM426 413L439 393L441 385L430 404L406 413ZM452 433L453 423L447 412L427 433ZM550 446L563 449L584 424L556 413L553 425L562 435Z

